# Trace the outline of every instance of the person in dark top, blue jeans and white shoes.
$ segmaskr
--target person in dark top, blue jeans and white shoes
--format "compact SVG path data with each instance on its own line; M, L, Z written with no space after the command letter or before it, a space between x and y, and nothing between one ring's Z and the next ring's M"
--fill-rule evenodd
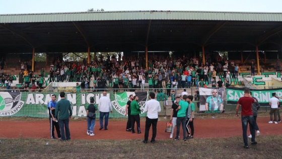
M87 118L87 135L94 136L93 129L95 127L95 120L96 120L96 111L97 106L94 104L94 98L90 98L90 105L88 105L86 111L86 118Z

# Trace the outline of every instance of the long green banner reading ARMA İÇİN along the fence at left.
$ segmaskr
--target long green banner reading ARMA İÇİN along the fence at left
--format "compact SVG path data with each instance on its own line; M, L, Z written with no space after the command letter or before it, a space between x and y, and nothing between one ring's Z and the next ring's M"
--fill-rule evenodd
M51 101L52 94L56 95L56 101L60 100L59 92L0 92L0 117L46 118L48 117L47 104ZM140 116L146 116L143 114L143 109L145 102L149 100L149 92L109 92L107 96L110 97L113 107L110 118L127 118L124 116L125 108L131 94L139 97L138 102L142 111ZM101 96L103 96L102 92L65 93L66 99L72 105L74 117L85 117L90 97L94 97L95 103L98 103ZM97 117L99 117L99 110Z

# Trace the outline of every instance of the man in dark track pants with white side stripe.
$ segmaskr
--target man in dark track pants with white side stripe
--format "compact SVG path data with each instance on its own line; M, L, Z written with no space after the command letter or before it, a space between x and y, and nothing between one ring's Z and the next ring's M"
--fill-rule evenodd
M192 95L188 95L187 97L187 101L189 103L189 107L188 107L188 112L187 112L187 120L186 120L186 131L188 133L188 136L186 137L186 139L192 139L193 135L194 135L194 112L195 112L195 104L193 103L193 96ZM188 126L190 126L191 129L191 133L190 130L188 128Z

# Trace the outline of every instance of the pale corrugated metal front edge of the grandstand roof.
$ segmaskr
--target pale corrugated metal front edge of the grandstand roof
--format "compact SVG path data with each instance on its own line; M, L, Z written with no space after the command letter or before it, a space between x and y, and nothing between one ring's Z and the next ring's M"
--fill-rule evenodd
M0 23L71 22L112 20L223 20L282 21L282 13L198 12L198 11L116 11L0 15Z

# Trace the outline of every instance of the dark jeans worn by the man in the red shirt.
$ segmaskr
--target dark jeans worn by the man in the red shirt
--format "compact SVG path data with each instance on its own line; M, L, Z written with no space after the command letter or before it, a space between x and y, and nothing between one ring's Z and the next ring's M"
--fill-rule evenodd
M255 119L254 116L242 116L242 129L243 129L243 140L245 146L248 145L248 136L247 136L247 129L248 129L248 123L250 124L250 132L252 135L251 141L255 141Z

